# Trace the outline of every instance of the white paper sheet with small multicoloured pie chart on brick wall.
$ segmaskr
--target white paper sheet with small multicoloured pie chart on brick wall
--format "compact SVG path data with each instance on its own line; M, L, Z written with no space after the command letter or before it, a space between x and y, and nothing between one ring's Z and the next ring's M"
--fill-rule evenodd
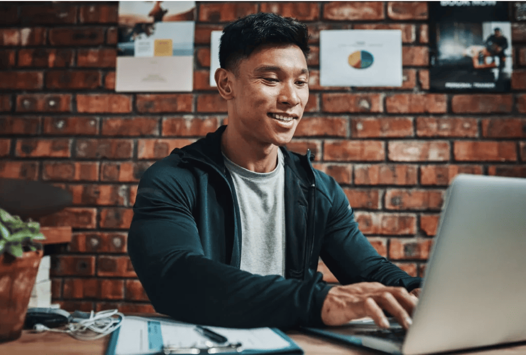
M320 31L322 86L402 86L398 29Z

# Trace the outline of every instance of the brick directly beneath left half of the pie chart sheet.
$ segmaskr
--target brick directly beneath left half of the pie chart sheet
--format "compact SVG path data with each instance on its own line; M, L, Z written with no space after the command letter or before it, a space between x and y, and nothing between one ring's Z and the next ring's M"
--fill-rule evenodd
M321 102L324 112L357 113L383 111L381 94L322 94Z

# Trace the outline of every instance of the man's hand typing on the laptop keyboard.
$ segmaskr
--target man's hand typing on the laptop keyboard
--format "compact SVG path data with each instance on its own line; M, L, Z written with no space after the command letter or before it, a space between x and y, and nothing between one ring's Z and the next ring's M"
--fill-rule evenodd
M383 310L404 328L409 328L418 298L403 287L384 286L379 282L360 282L335 286L329 290L321 308L321 320L327 326L340 326L350 320L371 317L379 327L389 328Z

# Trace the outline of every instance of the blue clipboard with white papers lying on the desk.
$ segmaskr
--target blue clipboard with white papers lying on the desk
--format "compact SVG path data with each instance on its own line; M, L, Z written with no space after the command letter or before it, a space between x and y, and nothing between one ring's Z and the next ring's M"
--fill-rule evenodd
M224 345L210 342L196 331L196 324L165 317L127 316L108 342L105 355L207 354L259 355L303 354L303 350L277 328L234 329L207 327L225 336ZM197 340L197 343L196 343ZM232 347L228 348L229 345ZM239 347L240 346L240 347ZM179 349L164 352L165 348ZM212 347L211 352L203 351Z

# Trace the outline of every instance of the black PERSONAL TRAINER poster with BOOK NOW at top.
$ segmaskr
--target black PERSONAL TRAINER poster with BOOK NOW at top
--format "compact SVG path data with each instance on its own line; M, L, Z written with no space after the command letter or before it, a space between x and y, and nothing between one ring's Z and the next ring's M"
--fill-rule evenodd
M429 2L432 92L508 92L511 24L507 1Z

